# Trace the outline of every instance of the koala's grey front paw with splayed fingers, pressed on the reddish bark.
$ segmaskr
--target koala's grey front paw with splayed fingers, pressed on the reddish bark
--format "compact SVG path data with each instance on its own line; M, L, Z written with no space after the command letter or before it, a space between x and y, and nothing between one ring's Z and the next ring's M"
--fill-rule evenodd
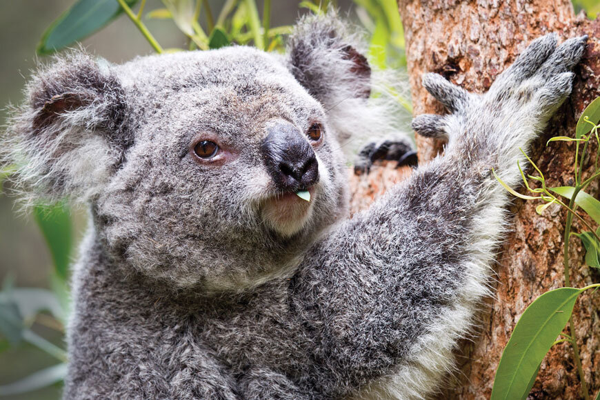
M449 111L423 114L412 128L425 137L462 142L461 152L496 154L527 146L568 97L587 36L557 46L548 34L533 41L510 68L499 75L483 95L469 94L437 74L423 76L423 86Z

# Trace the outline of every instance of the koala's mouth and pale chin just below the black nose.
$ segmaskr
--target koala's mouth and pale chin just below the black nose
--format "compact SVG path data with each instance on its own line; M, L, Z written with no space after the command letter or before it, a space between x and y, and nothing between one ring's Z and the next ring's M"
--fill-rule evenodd
M262 219L269 228L284 237L298 233L310 219L316 201L315 186L308 188L310 201L295 192L284 192L266 199L262 208Z

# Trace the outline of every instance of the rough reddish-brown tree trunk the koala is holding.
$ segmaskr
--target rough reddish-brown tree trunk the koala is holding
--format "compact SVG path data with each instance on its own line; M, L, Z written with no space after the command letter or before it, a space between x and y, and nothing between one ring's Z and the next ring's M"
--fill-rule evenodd
M599 96L600 19L574 15L568 0L399 0L406 34L406 54L414 114L444 112L421 86L423 72L438 72L472 92L485 92L530 41L557 32L561 40L588 34L583 61L576 68L573 94L532 146L534 162L549 186L573 184L572 143L550 143L553 136L571 136L583 108ZM482 118L486 116L482 115ZM443 143L417 139L419 162L426 163ZM596 147L592 146L592 154ZM588 174L594 157L586 159ZM399 171L395 172L394 171ZM373 168L352 177L352 210L377 197L407 170ZM588 175L589 176L589 175ZM598 184L587 190L597 196ZM496 294L482 305L479 329L457 351L458 370L440 399L489 399L494 373L515 323L526 307L544 292L564 285L563 228L566 213L557 205L539 216L536 201L515 200L510 207L511 232L499 249ZM581 231L574 223L574 231ZM571 284L583 287L600 281L600 273L583 262L583 248L571 239ZM583 371L592 399L600 390L600 292L581 295L574 310ZM541 364L530 399L580 399L581 384L568 343L554 346Z

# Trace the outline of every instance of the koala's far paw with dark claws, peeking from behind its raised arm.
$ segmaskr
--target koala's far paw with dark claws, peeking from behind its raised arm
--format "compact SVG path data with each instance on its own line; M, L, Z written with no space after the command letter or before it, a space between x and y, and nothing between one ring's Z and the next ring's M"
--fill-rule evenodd
M417 152L404 138L390 138L379 143L371 142L364 146L354 161L354 174L368 174L374 161L397 161L397 167L417 166Z

